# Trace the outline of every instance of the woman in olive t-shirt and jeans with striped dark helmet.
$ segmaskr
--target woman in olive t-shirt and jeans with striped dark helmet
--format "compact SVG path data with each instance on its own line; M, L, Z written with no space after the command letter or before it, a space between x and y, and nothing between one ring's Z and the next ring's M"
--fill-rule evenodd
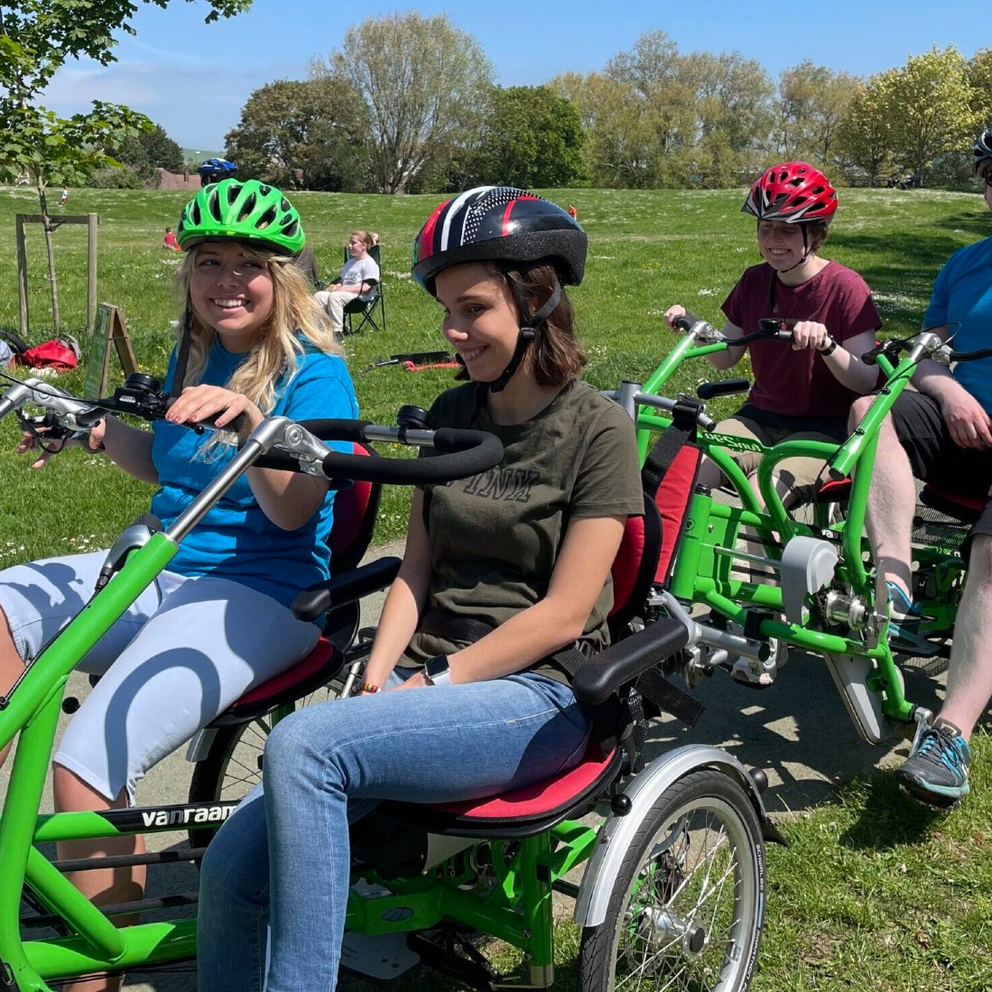
M416 490L363 693L281 721L264 795L207 848L203 992L335 987L349 804L488 796L584 753L589 719L549 656L608 643L610 564L643 510L633 424L578 379L585 357L561 284L581 281L585 252L564 210L501 186L445 201L418 235L414 278L443 308L470 380L437 398L434 427L497 434L497 474L526 492L498 498L492 473ZM469 643L452 632L459 620L491 632Z

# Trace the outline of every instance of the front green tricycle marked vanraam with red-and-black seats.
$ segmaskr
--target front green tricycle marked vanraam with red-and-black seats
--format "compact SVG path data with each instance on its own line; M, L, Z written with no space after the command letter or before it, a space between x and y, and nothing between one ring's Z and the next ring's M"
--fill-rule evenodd
M87 430L108 411L154 420L166 403L149 377L97 401L28 380L8 387L0 417L41 408L43 426L58 437ZM434 446L441 453L367 457L330 450L328 439ZM385 428L269 418L170 528L145 521L122 535L108 558L109 581L0 698L0 746L18 737L0 815L0 988L39 992L83 976L166 967L195 955L194 921L117 927L116 918L148 907L96 907L64 877L66 871L106 867L106 859L60 862L41 845L205 829L222 822L235 802L55 814L41 813L40 806L69 673L168 565L213 502L252 464L292 466L342 483L428 484L488 471L501 457L490 434L432 432L409 420ZM575 679L576 692L596 714L597 733L585 759L527 790L471 804L380 806L379 832L360 836L381 841L355 848L346 967L402 980L425 961L475 988L549 988L559 892L575 899L578 985L585 992L748 988L764 923L764 841L779 837L762 805L767 781L760 772L749 773L712 747L684 746L651 760L643 752L645 723L662 706L692 716L664 678L667 668L678 667L689 628L678 618L644 620L660 547L653 506L645 518L631 521L615 566L625 590L614 611L617 643L589 659ZM300 612L318 615L367 595L382 577L371 567L371 574L359 567L310 590ZM345 665L346 651L331 645L326 655L333 664L323 674L331 678ZM197 856L190 850L138 857L154 863ZM578 880L572 873L583 865ZM39 928L43 932L36 934ZM516 963L494 966L478 934L516 948Z

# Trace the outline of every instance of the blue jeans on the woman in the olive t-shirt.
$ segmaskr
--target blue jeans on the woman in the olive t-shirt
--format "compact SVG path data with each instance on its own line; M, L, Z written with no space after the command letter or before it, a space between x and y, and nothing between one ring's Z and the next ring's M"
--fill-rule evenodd
M249 796L203 859L199 988L330 992L349 820L382 800L446 803L539 782L576 764L588 733L571 689L531 673L341 699L283 720L265 748L264 798Z

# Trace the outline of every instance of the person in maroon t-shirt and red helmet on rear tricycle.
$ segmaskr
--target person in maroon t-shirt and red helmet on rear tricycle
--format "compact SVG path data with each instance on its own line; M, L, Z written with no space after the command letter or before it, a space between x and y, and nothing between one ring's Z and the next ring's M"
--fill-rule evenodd
M822 173L805 162L773 166L751 187L744 213L758 218L758 250L752 266L723 304L724 333L733 339L758 329L763 317L794 318L795 342L755 341L750 346L754 385L748 402L717 427L721 434L752 437L762 444L787 439L842 441L854 399L875 385L877 370L861 361L875 343L882 319L865 281L837 262L820 258L837 193ZM672 326L685 312L665 312ZM741 360L744 348L709 355L718 369ZM735 455L757 491L760 455ZM818 484L823 463L788 458L776 470L776 488L787 506L804 502ZM706 462L700 474L717 485L719 471Z

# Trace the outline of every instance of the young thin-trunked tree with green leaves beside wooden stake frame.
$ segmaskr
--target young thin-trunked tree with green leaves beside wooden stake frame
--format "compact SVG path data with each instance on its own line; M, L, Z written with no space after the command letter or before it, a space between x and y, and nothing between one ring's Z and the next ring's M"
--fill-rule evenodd
M165 8L169 0L142 0ZM191 0L186 0L191 2ZM251 0L207 0L209 23L246 10ZM82 182L130 138L149 129L143 114L99 100L85 114L62 118L41 105L55 73L72 59L114 62L113 32L134 34L138 4L129 0L18 0L0 3L0 182L22 176L38 190L49 256L52 310L59 296L46 186Z

